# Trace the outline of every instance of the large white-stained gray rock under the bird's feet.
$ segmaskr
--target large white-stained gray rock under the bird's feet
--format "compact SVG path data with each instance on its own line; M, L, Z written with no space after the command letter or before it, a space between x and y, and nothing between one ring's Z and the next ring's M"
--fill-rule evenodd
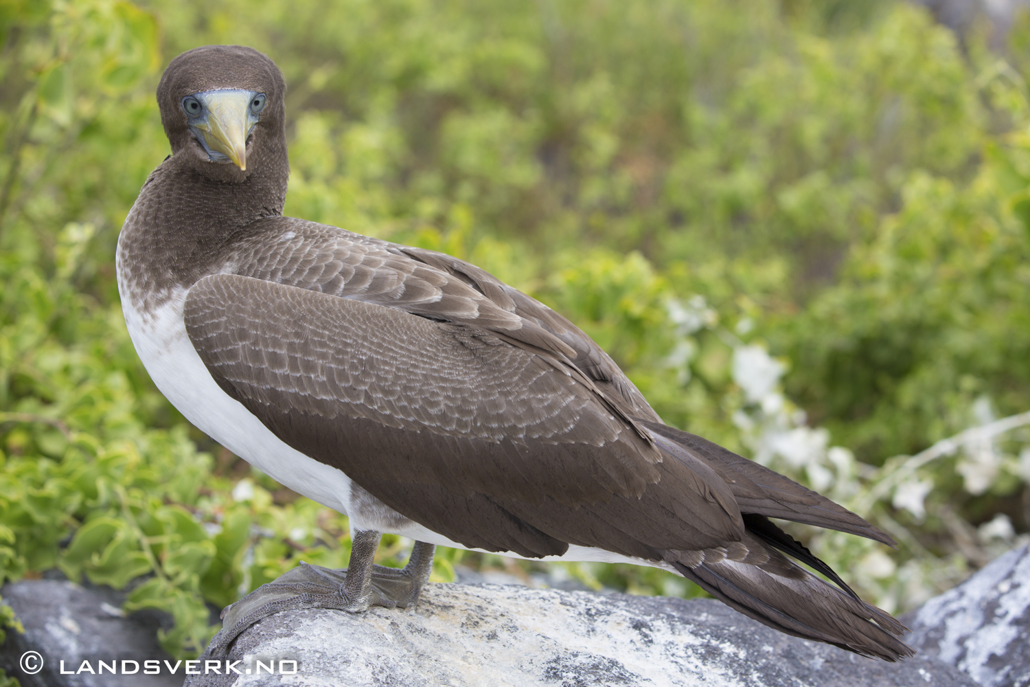
M862 658L788 637L711 599L491 584L427 585L414 612L273 615L245 630L229 659L239 661L240 675L202 673L185 687L975 685L932 657ZM295 669L291 661L296 675L281 675Z

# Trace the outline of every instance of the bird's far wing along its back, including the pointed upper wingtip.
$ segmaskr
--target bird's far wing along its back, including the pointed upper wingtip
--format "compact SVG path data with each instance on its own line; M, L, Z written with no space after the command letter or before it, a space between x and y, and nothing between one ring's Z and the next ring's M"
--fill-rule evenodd
M586 334L544 304L484 270L444 253L371 239L289 217L252 225L237 244L234 269L346 299L492 332L542 353L579 381L649 442L655 435L677 459L700 460L723 478L746 513L870 537L893 545L871 524L782 475L660 422L618 366ZM646 426L646 430L644 427Z

